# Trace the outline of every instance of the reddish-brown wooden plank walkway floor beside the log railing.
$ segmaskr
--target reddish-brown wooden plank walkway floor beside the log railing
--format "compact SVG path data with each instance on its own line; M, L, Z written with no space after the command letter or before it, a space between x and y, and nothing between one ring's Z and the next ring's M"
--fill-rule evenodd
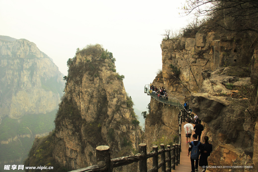
M178 166L175 167L175 170L172 170L173 172L191 172L191 160L190 160L190 155L189 157L187 156L188 154L188 148L189 148L189 144L186 143L186 135L184 134L184 125L186 125L187 122L183 122L182 123L182 131L181 131L181 139L182 139L182 143L181 143L181 154L180 154L180 164ZM195 126L195 124L192 124L193 126ZM195 134L193 132L193 134ZM201 138L203 137L203 133L201 134ZM193 141L192 137L191 140ZM201 143L202 140L200 140ZM201 168L199 166L198 170L201 171L203 168Z

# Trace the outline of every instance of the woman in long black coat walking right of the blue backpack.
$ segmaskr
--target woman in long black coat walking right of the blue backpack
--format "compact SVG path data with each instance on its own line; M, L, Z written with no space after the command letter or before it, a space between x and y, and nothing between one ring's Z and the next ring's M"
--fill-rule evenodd
M200 159L199 159L199 166L201 166L201 167L205 167L208 165L207 159L208 159L208 156L211 155L211 152L212 152L212 144L210 144L208 142L209 137L204 136L204 140L205 140L205 143L202 144L203 152L201 152ZM202 170L202 172L205 170L206 170L206 168L204 168Z

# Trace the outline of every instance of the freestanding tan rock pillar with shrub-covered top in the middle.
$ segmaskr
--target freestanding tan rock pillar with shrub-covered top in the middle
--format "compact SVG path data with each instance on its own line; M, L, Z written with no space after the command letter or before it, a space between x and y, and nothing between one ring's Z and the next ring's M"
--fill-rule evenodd
M99 145L110 146L112 158L138 149L142 131L124 89L124 76L115 72L114 62L112 53L98 44L78 50L67 61L67 83L53 142L53 158L67 169L94 165Z

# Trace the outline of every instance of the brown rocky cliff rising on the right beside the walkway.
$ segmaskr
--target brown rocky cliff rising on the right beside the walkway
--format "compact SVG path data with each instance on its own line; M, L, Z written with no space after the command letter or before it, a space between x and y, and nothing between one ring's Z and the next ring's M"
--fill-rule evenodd
M222 37L216 32L200 30L195 38L182 37L161 44L162 74L153 84L163 86L169 94L184 97L183 101L190 101L213 144L209 164L246 165L252 164L252 160L255 163L257 158L254 151L257 87L253 85L257 83L257 53L246 48L251 45L249 40L245 34ZM238 90L232 92L232 89ZM164 105L151 100L150 107L160 109ZM171 118L177 121L178 112L170 111ZM160 117L165 115L158 113ZM161 119L160 123L171 122ZM146 126L151 122L155 121L147 117ZM178 124L171 126L176 128ZM146 129L145 135L150 137L145 137L145 141L158 139L151 133Z

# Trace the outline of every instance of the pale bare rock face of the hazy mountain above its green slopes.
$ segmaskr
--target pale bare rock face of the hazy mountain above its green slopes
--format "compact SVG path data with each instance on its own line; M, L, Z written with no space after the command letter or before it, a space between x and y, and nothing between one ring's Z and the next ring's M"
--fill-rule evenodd
M62 74L36 44L1 36L0 61L0 119L57 109Z

